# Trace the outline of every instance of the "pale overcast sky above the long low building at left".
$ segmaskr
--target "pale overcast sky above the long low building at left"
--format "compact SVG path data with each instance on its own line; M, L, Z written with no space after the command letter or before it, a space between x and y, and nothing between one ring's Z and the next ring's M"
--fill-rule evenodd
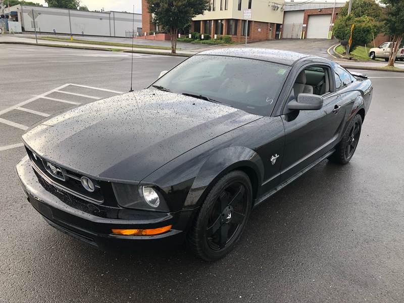
M43 6L47 6L44 0L31 0ZM81 0L81 5L88 7L90 11L100 11L102 8L106 11L126 11L131 13L135 5L135 13L141 13L141 0Z

